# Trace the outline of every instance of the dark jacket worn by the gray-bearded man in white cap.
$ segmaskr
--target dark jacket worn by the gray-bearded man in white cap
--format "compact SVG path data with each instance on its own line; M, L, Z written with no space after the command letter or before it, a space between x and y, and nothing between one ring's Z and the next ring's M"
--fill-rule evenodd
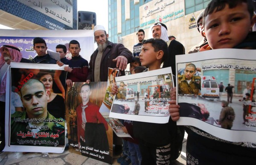
M90 58L89 63L89 73L87 76L87 80L94 81L94 66L95 66L95 59L98 53L98 49L96 49ZM108 67L116 68L116 62L113 62L113 59L116 59L118 56L125 56L128 59L128 63L131 62L133 57L130 50L124 47L122 44L115 44L112 42L108 42L107 48L105 48L101 64L100 64L100 81L108 81ZM125 75L125 71L119 71L122 76Z

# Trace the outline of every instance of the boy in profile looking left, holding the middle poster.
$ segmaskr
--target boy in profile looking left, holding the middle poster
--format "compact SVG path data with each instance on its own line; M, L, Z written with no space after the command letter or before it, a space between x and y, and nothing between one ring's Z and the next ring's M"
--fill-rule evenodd
M148 39L143 41L140 53L141 65L148 67L145 71L160 69L164 56L168 53L168 46L162 39ZM116 86L112 91L116 91ZM171 163L172 139L176 135L176 122L146 123L133 121L134 137L139 140L142 155L141 165L155 165Z

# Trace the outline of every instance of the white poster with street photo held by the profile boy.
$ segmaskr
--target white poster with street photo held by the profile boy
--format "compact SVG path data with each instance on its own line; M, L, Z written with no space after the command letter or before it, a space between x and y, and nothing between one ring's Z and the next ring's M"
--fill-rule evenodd
M109 117L150 123L168 122L168 101L174 87L170 67L116 77L116 85L119 92Z

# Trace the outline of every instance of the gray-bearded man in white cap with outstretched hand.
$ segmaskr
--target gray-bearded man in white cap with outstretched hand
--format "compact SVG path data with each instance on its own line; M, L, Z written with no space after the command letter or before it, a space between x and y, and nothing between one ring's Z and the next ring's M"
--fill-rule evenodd
M132 53L122 44L108 41L108 34L102 25L94 27L94 38L98 48L93 52L89 63L87 83L108 81L108 67L119 69L122 76L132 60Z

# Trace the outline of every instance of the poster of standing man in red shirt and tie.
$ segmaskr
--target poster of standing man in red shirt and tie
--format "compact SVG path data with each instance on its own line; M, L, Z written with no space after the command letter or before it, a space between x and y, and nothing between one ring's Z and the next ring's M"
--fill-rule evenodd
M67 88L66 120L69 150L112 164L113 131L99 112L107 82L73 82Z

